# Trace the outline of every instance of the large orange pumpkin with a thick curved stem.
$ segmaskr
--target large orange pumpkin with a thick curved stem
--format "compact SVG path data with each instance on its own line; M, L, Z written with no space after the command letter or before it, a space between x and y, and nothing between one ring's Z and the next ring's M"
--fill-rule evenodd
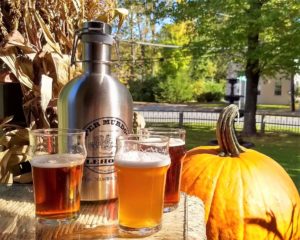
M208 240L300 240L299 193L278 163L239 145L237 113L220 114L219 146L188 151L181 190L204 201Z

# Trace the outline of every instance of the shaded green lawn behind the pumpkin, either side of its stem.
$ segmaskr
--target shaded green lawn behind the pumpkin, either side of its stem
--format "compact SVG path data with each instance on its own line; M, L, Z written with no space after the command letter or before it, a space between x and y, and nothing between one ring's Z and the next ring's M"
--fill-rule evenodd
M215 140L212 127L186 127L187 148L207 145ZM289 173L298 191L300 191L300 135L266 133L250 139L243 139L255 144L253 149L276 160Z

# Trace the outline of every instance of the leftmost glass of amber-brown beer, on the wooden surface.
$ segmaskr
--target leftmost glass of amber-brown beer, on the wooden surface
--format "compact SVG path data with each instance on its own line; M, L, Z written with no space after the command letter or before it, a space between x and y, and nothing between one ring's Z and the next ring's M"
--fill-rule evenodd
M85 132L37 129L29 132L29 139L38 222L56 225L76 219L86 157Z

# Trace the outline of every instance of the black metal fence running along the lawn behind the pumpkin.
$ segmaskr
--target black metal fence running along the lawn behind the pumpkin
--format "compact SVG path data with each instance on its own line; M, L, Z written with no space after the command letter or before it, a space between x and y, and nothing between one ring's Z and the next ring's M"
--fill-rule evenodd
M172 126L216 126L219 111L148 111L138 110L149 125L169 124ZM236 128L242 128L244 118L237 118ZM300 116L270 112L256 115L256 127L261 133L284 132L300 134Z

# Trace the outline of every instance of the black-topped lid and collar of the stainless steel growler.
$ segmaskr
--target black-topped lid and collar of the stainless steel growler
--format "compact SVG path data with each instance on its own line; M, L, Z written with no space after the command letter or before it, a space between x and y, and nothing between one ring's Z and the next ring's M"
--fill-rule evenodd
M82 42L94 42L113 45L114 39L111 35L112 27L101 21L88 21L83 23L80 30Z

